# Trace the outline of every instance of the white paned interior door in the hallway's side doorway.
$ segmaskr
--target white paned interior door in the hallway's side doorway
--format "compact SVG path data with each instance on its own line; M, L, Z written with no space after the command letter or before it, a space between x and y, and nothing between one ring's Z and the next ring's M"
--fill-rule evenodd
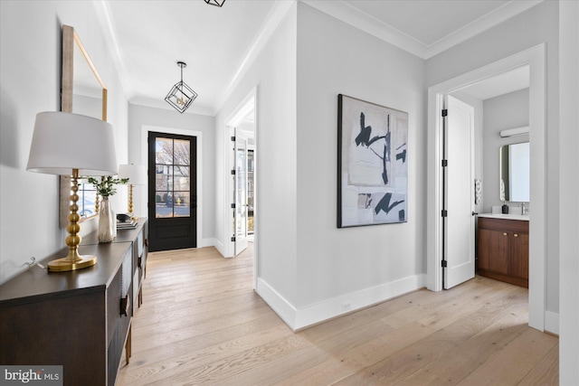
M239 255L247 248L247 154L248 139L235 129L233 146L233 240L234 255Z

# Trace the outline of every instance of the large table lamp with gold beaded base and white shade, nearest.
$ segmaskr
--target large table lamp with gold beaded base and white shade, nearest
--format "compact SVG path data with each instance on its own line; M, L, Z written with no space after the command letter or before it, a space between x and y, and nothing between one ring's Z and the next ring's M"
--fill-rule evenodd
M83 146L78 146L81 140ZM88 268L96 256L79 255L81 219L77 194L79 175L117 174L117 153L113 129L97 118L66 112L42 112L36 115L33 141L26 170L44 174L71 175L71 206L66 227L68 255L48 263L49 271Z

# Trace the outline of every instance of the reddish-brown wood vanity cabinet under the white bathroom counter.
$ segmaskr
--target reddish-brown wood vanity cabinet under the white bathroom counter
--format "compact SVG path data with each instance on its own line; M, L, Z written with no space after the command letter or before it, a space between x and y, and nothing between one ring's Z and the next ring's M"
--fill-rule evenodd
M477 272L528 287L528 221L479 217Z

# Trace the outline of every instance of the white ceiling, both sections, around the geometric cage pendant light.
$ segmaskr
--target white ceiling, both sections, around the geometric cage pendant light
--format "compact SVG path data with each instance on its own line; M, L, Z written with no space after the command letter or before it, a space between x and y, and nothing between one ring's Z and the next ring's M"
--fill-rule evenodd
M223 7L204 0L108 0L94 5L131 103L171 108L164 99L180 80L176 61L185 61L183 80L199 95L187 111L214 115L296 1L428 59L541 0L226 0Z

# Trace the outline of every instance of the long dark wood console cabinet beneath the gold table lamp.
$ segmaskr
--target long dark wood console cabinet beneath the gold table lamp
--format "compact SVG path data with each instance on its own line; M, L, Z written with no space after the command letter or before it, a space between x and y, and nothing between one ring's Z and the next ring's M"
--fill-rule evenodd
M64 385L114 385L123 349L130 354L146 232L147 219L141 219L137 229L119 231L110 243L99 244L90 234L79 252L96 255L96 265L71 272L31 267L0 286L0 363L62 365Z

